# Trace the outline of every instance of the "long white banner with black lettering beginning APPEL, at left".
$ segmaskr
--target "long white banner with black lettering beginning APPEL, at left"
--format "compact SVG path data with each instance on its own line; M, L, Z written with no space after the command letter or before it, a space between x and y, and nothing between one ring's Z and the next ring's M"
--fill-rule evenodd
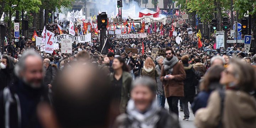
M76 43L84 43L84 42L91 42L91 33L89 34L85 34L85 35L82 35L82 36L70 36L70 35L67 35L67 34L60 34L58 36L55 36L53 38L54 40L54 43L62 43L62 40L61 39L71 39L72 42L76 42Z

